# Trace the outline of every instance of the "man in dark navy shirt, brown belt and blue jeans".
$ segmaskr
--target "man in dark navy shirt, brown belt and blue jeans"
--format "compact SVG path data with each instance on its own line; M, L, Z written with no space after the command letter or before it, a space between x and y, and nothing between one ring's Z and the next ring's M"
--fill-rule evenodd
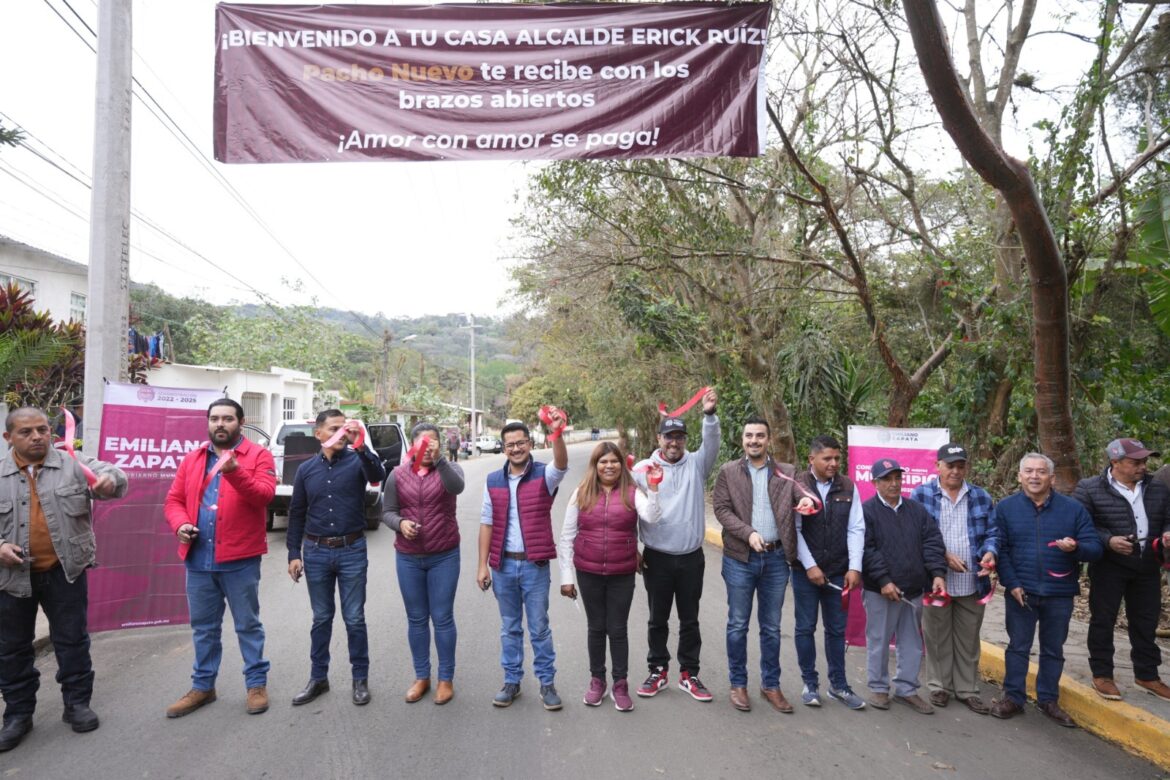
M342 429L345 435L326 447ZM333 634L335 587L340 592L342 620L353 668L353 703L370 703L370 641L365 624L366 540L365 490L386 478L378 455L356 444L360 423L337 409L317 415L314 436L321 454L301 464L289 503L289 577L304 574L312 606L309 682L292 697L308 704L329 690L329 642ZM302 560L302 546L303 560Z

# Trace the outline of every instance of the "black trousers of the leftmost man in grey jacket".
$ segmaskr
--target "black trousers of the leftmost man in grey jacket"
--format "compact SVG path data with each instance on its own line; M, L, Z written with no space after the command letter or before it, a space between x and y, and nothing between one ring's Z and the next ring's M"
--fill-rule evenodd
M32 580L32 598L18 599L0 592L0 693L4 693L5 722L32 716L36 710L36 690L41 686L41 672L33 653L37 606L49 619L49 635L57 656L57 683L66 706L89 704L94 693L85 572L70 584L57 565L33 574Z

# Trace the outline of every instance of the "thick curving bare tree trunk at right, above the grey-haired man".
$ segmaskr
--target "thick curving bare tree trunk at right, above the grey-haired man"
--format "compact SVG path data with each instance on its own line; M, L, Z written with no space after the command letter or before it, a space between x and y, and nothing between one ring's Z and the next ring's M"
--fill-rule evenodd
M963 158L998 189L1016 221L1032 283L1032 356L1040 448L1057 464L1057 486L1069 491L1081 476L1071 400L1068 277L1027 166L1010 157L979 126L951 62L934 2L902 0L918 65L943 127Z

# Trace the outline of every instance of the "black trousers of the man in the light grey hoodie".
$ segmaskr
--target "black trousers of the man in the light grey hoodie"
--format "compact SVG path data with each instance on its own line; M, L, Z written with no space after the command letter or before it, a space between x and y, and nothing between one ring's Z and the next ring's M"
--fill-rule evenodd
M682 555L672 555L646 547L642 551L642 579L651 619L646 663L651 671L670 663L666 641L670 636L670 607L679 607L679 669L698 676L698 653L703 637L698 634L698 600L703 595L703 570L707 559L703 548Z

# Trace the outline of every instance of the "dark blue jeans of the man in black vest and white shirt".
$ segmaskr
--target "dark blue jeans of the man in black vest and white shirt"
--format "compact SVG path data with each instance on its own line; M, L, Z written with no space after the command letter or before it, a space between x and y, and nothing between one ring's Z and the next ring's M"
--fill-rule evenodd
M845 586L845 575L827 578L838 587ZM847 614L841 608L841 592L808 581L804 570L792 574L792 600L796 608L797 662L805 685L819 684L817 676L817 610L825 621L825 663L828 667L828 684L833 690L849 686L845 677L845 621Z

